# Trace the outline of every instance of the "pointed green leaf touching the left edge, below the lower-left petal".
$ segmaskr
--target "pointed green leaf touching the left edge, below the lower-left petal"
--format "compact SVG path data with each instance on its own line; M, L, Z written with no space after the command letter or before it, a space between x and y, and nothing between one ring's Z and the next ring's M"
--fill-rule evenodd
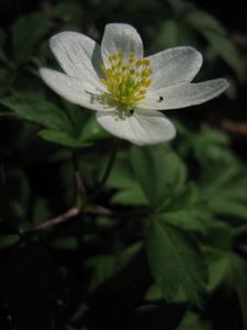
M71 131L66 114L38 95L14 95L2 98L0 103L11 110L5 116L13 116L48 129Z

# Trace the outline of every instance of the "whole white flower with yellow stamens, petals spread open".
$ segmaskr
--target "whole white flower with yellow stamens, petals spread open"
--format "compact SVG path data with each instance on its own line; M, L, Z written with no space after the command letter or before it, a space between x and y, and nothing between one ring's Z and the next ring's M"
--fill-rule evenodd
M200 105L228 86L225 79L191 82L202 65L192 47L144 57L142 38L127 24L108 24L101 46L76 32L58 33L49 44L65 74L41 68L44 81L68 101L96 110L106 131L138 145L176 135L157 110Z

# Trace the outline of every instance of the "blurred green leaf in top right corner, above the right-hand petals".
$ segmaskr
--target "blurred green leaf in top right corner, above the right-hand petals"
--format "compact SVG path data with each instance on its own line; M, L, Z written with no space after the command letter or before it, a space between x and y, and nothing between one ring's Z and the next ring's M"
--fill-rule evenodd
M216 19L201 10L188 10L183 15L183 21L199 31L212 31L226 35L225 29L217 22Z

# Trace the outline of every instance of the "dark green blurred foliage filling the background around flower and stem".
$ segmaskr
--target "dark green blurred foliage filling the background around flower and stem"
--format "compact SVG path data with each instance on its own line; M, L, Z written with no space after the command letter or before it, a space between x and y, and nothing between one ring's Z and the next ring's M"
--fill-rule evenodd
M246 44L192 2L3 1L0 329L247 329L246 138L222 130L244 117ZM100 41L109 18L135 25L147 54L200 50L200 78L228 77L228 99L173 111L170 144L122 142L98 213L38 230L77 201L75 173L98 186L112 138L37 69L56 65L49 36Z

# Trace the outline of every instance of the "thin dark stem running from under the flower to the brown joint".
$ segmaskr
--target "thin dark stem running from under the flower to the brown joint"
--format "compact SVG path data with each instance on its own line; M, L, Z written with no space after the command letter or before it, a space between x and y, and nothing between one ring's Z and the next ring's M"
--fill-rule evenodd
M100 184L96 188L96 190L91 194L91 196L89 196L90 201L96 199L101 194L104 185L106 184L108 178L109 178L109 176L112 172L113 165L115 163L115 158L116 158L116 154L117 154L117 151L119 151L119 147L120 147L120 143L121 143L120 139L114 139L105 172L103 174L103 177L102 177Z

